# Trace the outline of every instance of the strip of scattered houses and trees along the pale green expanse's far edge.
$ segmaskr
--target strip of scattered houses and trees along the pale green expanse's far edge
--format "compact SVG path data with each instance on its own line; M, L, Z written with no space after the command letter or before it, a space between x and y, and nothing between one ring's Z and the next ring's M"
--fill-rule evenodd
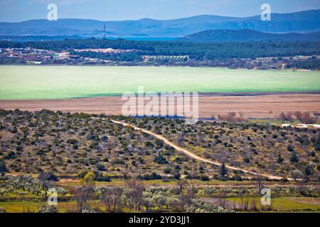
M294 55L289 57L232 58L216 60L193 60L189 55L141 55L139 60L106 60L97 57L83 57L85 53L119 55L139 50L113 48L85 48L75 50L42 50L36 48L0 48L0 64L23 65L168 65L191 67L228 67L250 70L314 70L303 62L318 61L320 56ZM319 70L316 68L316 70Z

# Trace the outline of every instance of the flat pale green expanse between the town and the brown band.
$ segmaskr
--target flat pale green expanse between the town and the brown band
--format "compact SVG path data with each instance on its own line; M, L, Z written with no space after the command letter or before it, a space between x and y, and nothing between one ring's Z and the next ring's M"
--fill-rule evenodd
M0 99L68 99L123 92L306 92L320 72L202 67L0 66Z

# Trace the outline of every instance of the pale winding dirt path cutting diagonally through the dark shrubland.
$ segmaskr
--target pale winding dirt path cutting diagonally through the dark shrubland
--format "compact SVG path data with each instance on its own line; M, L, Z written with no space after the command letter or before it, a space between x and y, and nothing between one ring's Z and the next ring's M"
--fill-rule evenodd
M149 135L152 135L152 136L154 136L155 138L164 141L164 143L166 143L167 145L170 145L172 148L174 148L174 149L176 149L176 150L178 150L178 151L180 151L180 152L188 155L189 157L192 157L192 158L194 158L194 159L196 159L196 160L199 160L199 161L201 161L201 162L207 162L207 163L210 163L210 164L212 164L212 165L218 165L218 166L221 165L220 162L210 161L210 160L208 160L208 159L206 159L206 158L199 157L198 155L195 155L195 154L191 153L190 151L188 151L188 150L186 150L186 149L180 148L178 145L175 145L174 143L171 143L169 140L167 140L166 138L164 138L162 135L158 135L158 134L156 134L156 133L152 133L151 131L147 131L147 130L145 130L145 129L143 129L143 128L138 128L137 126L133 126L133 125L131 125L131 124L129 124L129 123L124 123L124 122L121 122L121 121L114 121L114 120L112 120L112 119L110 119L110 121L112 121L113 123L121 124L122 126L132 127L132 128L134 128L134 130L142 131L142 132L144 132L144 133L147 133L147 134L149 134ZM243 169L241 169L241 168L232 167L232 166L230 166L230 165L225 165L225 167L227 167L227 168L230 169L230 170L239 170L239 171L245 172L245 173L250 174L250 175L255 175L255 176L260 175L260 176L262 176L262 177L267 177L267 178L269 178L269 179L283 179L283 178L284 178L284 177L277 177L277 176L273 176L273 175L258 174L257 172L252 172L252 171L248 171L248 170L243 170ZM289 179L289 180L293 180L293 179L291 179L291 178L288 178L288 179Z

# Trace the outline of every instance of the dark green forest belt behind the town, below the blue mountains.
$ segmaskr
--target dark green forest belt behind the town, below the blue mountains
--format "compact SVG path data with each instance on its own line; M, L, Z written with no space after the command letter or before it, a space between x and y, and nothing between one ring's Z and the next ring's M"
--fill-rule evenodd
M130 40L63 40L12 43L0 41L0 48L38 48L71 50L83 48L113 48L136 50L124 53L141 55L189 55L195 60L215 58L283 57L294 55L320 55L320 42L250 42L250 43L179 43ZM89 52L91 57L102 53Z

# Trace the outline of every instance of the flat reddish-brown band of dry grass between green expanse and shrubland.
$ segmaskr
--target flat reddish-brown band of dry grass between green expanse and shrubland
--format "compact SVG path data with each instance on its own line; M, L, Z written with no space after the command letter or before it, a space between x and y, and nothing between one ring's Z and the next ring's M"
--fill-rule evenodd
M87 114L119 115L124 101L119 96L92 99L58 100L0 100L0 109L27 111L69 111ZM270 94L255 96L218 96L208 94L199 97L201 118L225 115L231 112L244 118L279 118L282 112L320 113L320 94Z

